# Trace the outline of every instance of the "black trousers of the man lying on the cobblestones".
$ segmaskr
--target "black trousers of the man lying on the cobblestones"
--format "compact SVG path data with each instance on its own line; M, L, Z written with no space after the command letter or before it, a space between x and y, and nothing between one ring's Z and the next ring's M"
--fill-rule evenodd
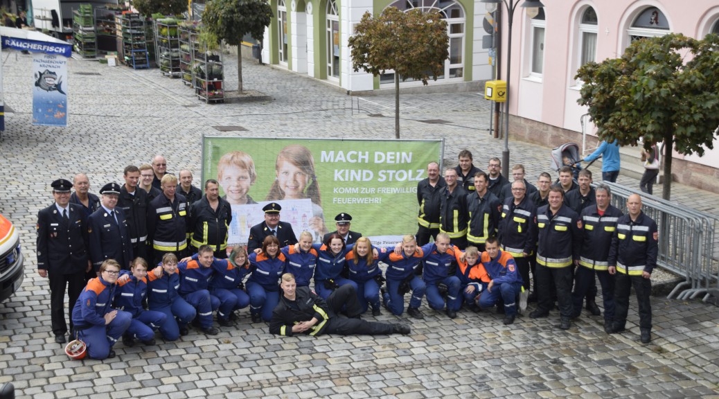
M331 316L327 322L324 334L339 335L380 335L392 334L393 326L385 323L375 323L362 320L361 318L344 318L336 316L345 308L350 317L359 316L362 313L362 306L357 300L357 291L349 284L345 284L334 290L327 298L327 305L330 308Z

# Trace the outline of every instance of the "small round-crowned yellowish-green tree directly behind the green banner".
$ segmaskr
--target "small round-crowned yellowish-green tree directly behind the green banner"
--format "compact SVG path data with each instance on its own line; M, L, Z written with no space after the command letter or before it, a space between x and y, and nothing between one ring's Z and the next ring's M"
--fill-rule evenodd
M387 7L379 17L365 12L349 38L352 67L378 76L395 71L395 137L400 138L400 79L427 84L444 73L449 57L447 24L436 11L402 12Z

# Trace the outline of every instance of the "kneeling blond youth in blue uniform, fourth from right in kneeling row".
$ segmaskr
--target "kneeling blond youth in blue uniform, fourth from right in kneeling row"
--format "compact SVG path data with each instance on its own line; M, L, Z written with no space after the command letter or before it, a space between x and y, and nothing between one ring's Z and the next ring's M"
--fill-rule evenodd
M383 290L382 298L385 306L395 316L400 316L404 312L404 294L412 292L412 298L409 301L407 314L413 318L424 318L419 310L422 304L422 298L426 291L426 285L421 278L415 274L420 263L425 260L431 253L434 243L425 244L418 248L417 242L412 235L402 237L402 252L395 254L395 247L385 248L385 252L391 252L385 262L387 263L387 288Z

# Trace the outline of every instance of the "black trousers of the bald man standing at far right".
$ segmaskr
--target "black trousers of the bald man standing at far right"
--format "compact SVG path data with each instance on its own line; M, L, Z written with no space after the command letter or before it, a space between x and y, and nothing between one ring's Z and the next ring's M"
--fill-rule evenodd
M632 285L636 291L636 301L639 305L639 328L651 330L651 280L641 275L626 275L620 272L615 274L614 287L614 326L623 328L629 313L629 293Z

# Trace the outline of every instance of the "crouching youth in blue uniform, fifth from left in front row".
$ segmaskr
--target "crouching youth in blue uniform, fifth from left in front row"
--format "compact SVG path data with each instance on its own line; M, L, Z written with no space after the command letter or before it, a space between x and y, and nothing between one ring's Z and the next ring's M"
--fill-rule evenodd
M220 301L217 308L217 323L229 327L236 318L234 311L249 306L249 295L242 288L242 280L249 275L247 247L235 245L227 259L212 261L214 276L210 280L210 295Z

